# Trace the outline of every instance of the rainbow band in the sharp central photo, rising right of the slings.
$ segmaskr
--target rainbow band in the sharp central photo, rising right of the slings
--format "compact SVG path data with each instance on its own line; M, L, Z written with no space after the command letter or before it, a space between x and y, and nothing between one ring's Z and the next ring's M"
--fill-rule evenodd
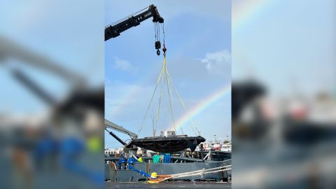
M217 102L219 99L225 96L225 94L230 94L231 91L231 85L226 85L224 87L221 87L216 92L210 94L208 97L202 99L202 101L198 104L196 104L190 111L185 113L179 120L175 122L174 124L169 126L169 130L174 130L174 128L177 130L178 128L182 127L183 125L186 125L189 121L191 121L195 116L200 114L202 111L207 109L211 104L214 104L214 102Z

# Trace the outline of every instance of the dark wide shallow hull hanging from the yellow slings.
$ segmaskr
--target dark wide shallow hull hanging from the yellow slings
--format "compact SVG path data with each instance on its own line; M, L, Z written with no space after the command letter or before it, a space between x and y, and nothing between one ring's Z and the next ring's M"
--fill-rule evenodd
M132 145L146 150L151 150L159 153L174 153L190 148L190 151L195 151L196 146L205 139L198 137L148 137L145 139L135 139L127 147Z

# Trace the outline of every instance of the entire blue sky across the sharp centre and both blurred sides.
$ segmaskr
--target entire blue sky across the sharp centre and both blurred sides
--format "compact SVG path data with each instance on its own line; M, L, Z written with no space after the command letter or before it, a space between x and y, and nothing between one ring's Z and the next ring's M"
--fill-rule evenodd
M232 10L230 1L219 0L80 1L80 8L78 3L3 2L0 15L6 22L0 22L0 35L99 82L105 66L106 118L132 131L139 130L162 65L162 57L155 54L153 22L146 20L105 43L102 28L151 3L165 18L169 73L207 139L214 139L214 131L221 131L218 137L230 135L230 94L225 87L231 76L262 80L274 94L286 94L295 86L306 93L335 90L333 0L235 0ZM0 92L1 113L47 109L10 76L8 65L24 68L55 97L68 90L62 78L18 60L3 62L9 64L0 67L0 85L6 87ZM176 107L176 120L183 115ZM147 121L146 128L151 127L151 119ZM188 125L183 128L193 134ZM141 136L151 134L148 130ZM106 144L119 145L112 137L106 137Z

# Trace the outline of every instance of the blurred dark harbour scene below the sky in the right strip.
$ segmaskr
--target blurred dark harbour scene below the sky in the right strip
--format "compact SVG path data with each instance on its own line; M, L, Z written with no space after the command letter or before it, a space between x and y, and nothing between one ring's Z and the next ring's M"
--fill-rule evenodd
M335 188L335 96L272 99L250 80L232 97L234 187Z

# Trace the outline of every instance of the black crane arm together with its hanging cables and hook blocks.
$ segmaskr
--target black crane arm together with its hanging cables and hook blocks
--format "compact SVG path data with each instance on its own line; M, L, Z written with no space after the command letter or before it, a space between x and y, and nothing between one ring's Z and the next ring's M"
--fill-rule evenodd
M157 55L160 55L160 25L164 23L164 19L160 16L158 8L153 4L129 15L117 22L113 22L111 25L105 27L105 41L108 41L110 38L115 38L120 36L120 33L130 29L131 27L136 27L140 25L140 22L147 20L148 18L153 17L153 22L155 23L155 49L157 50ZM164 34L164 48L162 49L165 53L167 48L165 48L165 28L162 27Z

